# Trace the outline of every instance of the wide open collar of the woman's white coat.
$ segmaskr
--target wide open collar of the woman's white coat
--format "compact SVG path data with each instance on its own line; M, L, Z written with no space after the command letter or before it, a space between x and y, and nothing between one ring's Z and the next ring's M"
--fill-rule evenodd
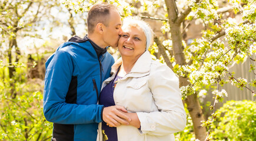
M123 79L128 77L142 77L149 74L150 65L151 65L151 55L148 51L145 51L135 62L135 65L132 67L131 72L127 73ZM119 58L111 68L112 75L117 73L118 67L122 64L122 58Z

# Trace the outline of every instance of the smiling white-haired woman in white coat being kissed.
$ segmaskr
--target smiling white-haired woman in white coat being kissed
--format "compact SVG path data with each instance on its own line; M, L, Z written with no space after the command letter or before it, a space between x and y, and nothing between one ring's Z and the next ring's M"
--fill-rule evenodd
M153 33L144 21L126 18L122 29L122 58L104 81L99 104L124 106L132 121L118 127L102 122L99 140L175 140L173 133L186 125L178 78L168 66L151 59Z

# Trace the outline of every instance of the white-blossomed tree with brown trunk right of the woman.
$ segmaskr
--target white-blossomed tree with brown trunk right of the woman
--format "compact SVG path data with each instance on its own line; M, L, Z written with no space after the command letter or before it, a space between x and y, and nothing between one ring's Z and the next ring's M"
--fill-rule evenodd
M199 140L208 140L210 136L209 132L206 133L205 126L211 124L215 115L213 113L201 126L204 119L197 93L207 86L217 85L217 89L212 92L215 95L215 102L211 108L214 109L215 103L227 96L227 92L224 89L220 90L219 85L230 82L234 86L250 89L247 80L235 78L234 74L229 72L228 66L240 63L247 57L255 61L251 57L256 51L255 5L253 1L230 1L226 5L231 7L228 11L241 13L243 16L243 21L237 23L232 18L223 18L222 13L225 11L218 8L217 1L184 1L188 6L179 13L175 3L165 1L176 63L174 70L179 75L182 95L193 121L195 136ZM190 45L186 45L182 43L181 30L184 27L181 24L193 19L200 19L205 29L201 38L194 39ZM220 39L221 36L225 36L225 39ZM227 45L224 41L228 42ZM253 64L251 70L254 71ZM225 76L229 76L229 79L225 80ZM250 86L255 87L255 82L255 79L250 80ZM255 95L255 92L250 90L252 95Z

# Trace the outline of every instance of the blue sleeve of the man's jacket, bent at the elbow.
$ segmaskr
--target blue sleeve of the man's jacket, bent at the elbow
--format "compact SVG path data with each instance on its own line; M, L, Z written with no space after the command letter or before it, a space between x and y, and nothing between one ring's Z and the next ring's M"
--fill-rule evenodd
M56 51L46 62L44 116L49 122L85 124L102 122L102 105L77 105L65 102L75 62L65 51Z

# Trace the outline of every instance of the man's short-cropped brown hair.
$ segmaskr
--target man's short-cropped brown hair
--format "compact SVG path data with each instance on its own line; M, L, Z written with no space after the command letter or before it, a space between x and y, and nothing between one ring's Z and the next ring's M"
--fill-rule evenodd
M93 33L94 28L98 23L102 23L108 26L109 15L112 9L117 9L114 5L102 2L95 4L88 12L87 16L87 26L88 32Z

